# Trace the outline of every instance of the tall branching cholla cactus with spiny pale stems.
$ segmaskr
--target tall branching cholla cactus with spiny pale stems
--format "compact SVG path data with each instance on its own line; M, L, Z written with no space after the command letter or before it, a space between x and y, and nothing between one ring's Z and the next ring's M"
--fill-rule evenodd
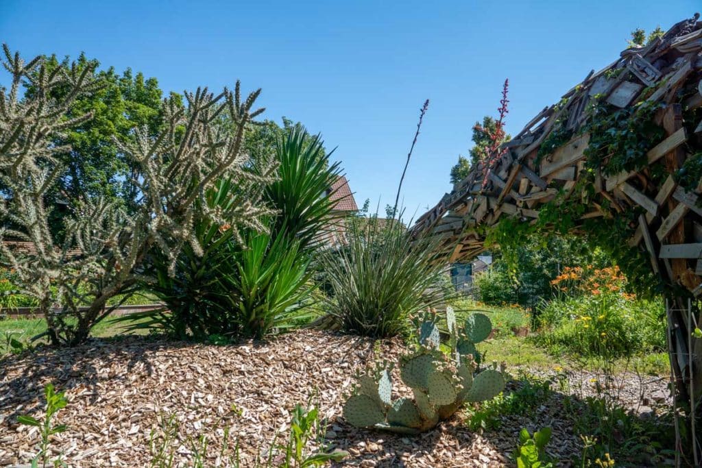
M92 326L112 312L107 300L135 286L151 248L171 262L185 243L200 252L192 233L199 218L232 229L263 229L259 217L271 210L260 202L262 182L272 179L272 167L255 175L243 150L246 127L263 112L252 110L260 90L241 100L237 82L234 92L213 95L199 88L185 93L187 106L173 96L164 100L158 137L135 129L133 142L122 147L139 169L138 199L130 201L135 214L127 216L100 199L73 201L67 237L57 243L45 199L61 173L54 156L69 148L57 147L53 138L91 118L67 116L77 96L100 85L91 81L90 66L50 70L41 57L25 62L7 46L4 53L11 84L0 88L0 188L5 194L0 197L0 264L13 267L23 292L37 299L54 344L84 341ZM25 85L32 93L22 96ZM204 197L220 178L236 186L231 203L208 209ZM18 252L12 241L34 248ZM53 312L55 307L60 313Z

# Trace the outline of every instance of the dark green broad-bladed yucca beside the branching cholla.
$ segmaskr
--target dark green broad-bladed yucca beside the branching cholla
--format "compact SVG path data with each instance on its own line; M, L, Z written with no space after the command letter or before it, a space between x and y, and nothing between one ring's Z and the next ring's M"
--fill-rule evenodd
M302 126L289 128L274 150L277 177L263 187L263 200L275 215L260 218L259 227L241 229L201 220L194 234L203 251L197 255L185 246L174 274L167 258L154 255L150 276L157 281L145 286L167 310L126 317L150 318L131 328L159 327L180 339L232 339L263 337L305 321L305 299L314 289L312 255L324 229L336 222L326 192L339 169L329 165L321 138ZM251 169L265 180L258 166ZM226 209L239 196L235 185L220 180L206 203Z

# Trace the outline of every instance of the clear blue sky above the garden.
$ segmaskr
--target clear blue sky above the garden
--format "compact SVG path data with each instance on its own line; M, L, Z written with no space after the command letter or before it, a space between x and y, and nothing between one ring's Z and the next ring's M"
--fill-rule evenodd
M664 29L696 1L32 1L0 0L0 41L23 55L85 51L155 76L166 91L263 88L265 116L321 132L359 204L407 213L450 190L471 127L494 115L510 79L518 132L590 69L612 62L636 27Z

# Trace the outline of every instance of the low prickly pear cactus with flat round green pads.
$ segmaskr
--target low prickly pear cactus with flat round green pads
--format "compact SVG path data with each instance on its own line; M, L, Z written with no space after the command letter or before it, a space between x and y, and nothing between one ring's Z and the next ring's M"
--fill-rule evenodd
M482 318L477 318L481 315ZM479 324L476 327L475 324ZM481 337L490 320L483 314L474 314L465 323L463 332L456 328L456 316L450 307L446 310L446 324L451 342L465 342L465 335ZM466 331L468 330L468 331ZM463 337L461 337L463 335ZM482 341L487 336L477 341ZM464 347L465 349L465 347ZM475 352L475 349L474 349ZM418 434L435 427L466 401L485 401L497 396L505 387L503 369L483 370L473 375L477 364L474 353L463 354L457 346L453 356L448 357L439 350L439 329L434 321L424 321L420 326L420 345L416 352L401 359L399 370L402 382L412 390L413 399L401 398L392 401L390 368L383 366L366 372L358 379L352 396L344 404L344 417L357 427L376 427L402 434Z

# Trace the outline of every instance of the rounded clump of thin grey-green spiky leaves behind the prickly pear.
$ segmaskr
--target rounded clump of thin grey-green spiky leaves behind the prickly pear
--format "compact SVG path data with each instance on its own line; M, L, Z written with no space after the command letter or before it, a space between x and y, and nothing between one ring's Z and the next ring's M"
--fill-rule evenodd
M332 294L326 309L347 333L404 334L409 315L444 300L444 273L431 241L413 240L397 220L350 224L349 243L322 255Z

